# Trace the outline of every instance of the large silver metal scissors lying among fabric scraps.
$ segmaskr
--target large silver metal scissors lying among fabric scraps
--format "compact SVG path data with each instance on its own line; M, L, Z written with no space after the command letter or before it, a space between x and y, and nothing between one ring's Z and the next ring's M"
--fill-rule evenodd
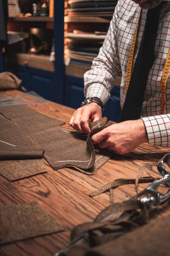
M157 179L151 182L146 189L142 190L139 194L129 199L129 201L131 200L140 201L143 204L147 205L147 209L151 209L151 208L156 208L158 206L161 206L162 204L164 204L170 199L170 172L166 170L164 164L167 164L167 166L170 168L170 153L167 153L157 164L157 169L163 177L161 179ZM159 187L161 186L168 187L168 191L166 192L165 195L162 195L158 191ZM84 236L84 233L77 236L64 248L59 250L54 256L64 255L63 252L67 248L71 247L74 243L79 241L83 236Z

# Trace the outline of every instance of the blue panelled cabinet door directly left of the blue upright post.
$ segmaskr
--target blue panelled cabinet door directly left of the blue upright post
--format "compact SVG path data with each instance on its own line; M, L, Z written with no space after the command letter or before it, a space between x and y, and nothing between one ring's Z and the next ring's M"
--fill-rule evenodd
M54 72L36 68L28 68L28 84L32 91L40 94L47 100L52 100Z

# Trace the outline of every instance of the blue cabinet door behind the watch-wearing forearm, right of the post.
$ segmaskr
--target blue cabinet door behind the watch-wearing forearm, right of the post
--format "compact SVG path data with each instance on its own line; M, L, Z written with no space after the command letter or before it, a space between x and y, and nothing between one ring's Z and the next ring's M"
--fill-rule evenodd
M64 104L77 109L84 100L84 81L81 78L65 76ZM112 98L112 99L111 99ZM120 87L115 86L111 91L111 98L104 105L103 116L109 120L119 122L121 117Z

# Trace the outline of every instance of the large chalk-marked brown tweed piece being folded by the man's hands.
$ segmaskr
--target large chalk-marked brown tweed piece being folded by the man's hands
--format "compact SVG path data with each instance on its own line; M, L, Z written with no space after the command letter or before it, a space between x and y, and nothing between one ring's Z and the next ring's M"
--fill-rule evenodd
M107 118L92 123L88 138L84 134L63 130L62 121L40 114L27 106L0 107L0 155L9 159L20 151L22 158L29 152L44 151L43 157L53 169L70 166L86 174L95 174L113 152L95 149L90 136L107 122ZM5 118L6 117L6 118ZM6 152L4 154L4 152ZM29 158L31 158L31 155ZM21 157L20 157L21 158Z

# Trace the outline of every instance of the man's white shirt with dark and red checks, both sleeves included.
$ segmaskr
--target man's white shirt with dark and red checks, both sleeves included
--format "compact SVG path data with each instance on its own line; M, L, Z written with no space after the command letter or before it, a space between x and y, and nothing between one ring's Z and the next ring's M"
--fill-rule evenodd
M131 0L119 0L110 27L91 69L84 74L86 97L98 97L103 105L110 98L115 77L121 75L121 108L125 101L126 73L130 47L140 7ZM141 10L132 72L146 21L146 9ZM170 74L166 84L165 114L159 115L161 78L170 45L170 0L164 2L155 43L155 61L149 72L141 117L146 126L149 144L170 146ZM113 110L114 111L114 110Z

